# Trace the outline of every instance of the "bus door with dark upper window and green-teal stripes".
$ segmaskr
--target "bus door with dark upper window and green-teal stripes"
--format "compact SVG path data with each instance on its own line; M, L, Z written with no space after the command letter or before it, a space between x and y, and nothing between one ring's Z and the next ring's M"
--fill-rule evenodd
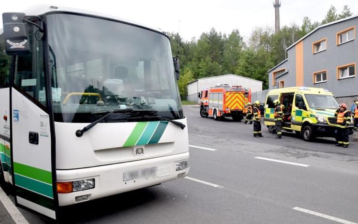
M44 41L34 38L37 28L29 25L28 29L30 53L15 56L10 97L15 202L56 219L55 136L48 108L52 99L46 90Z

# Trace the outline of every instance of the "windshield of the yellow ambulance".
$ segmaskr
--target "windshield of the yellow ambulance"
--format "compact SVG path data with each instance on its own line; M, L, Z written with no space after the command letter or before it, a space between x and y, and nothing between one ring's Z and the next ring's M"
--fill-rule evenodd
M337 109L339 104L331 95L305 94L306 100L312 109Z

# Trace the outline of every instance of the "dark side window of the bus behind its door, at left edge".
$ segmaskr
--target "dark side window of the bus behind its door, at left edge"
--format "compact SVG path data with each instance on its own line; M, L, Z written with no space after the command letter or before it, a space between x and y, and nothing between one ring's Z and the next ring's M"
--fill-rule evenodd
M5 53L4 35L0 34L0 89L9 87L11 56Z

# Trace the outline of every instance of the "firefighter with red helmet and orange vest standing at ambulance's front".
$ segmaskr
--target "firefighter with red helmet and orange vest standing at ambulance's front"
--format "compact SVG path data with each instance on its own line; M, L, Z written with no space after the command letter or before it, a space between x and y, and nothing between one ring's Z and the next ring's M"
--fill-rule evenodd
M346 104L341 104L334 116L337 117L336 146L343 146L343 148L347 148L349 145L348 126L351 123L351 112L347 110Z

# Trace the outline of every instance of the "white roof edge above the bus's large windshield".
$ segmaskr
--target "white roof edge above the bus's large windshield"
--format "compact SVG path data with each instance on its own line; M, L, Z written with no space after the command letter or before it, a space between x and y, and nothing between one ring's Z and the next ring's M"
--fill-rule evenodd
M124 18L121 18L118 16L106 15L106 14L101 14L101 13L97 13L97 12L91 12L91 11L76 9L76 8L62 7L62 6L57 6L57 5L36 4L36 5L31 6L30 8L25 9L23 11L23 13L25 13L26 15L44 15L44 14L48 14L48 13L54 13L56 11L58 11L59 13L67 12L67 13L75 13L75 14L82 14L82 15L92 15L92 16L102 17L102 18L106 18L106 19L117 20L117 21L133 24L135 26L139 26L142 28L154 30L154 31L165 34L165 32L163 32L163 30L161 30L159 28L153 28L153 27L150 27L150 26L147 26L147 25L144 25L141 23L137 23L137 22L134 22L134 21L131 21L128 19L124 19ZM0 27L2 27L2 24L0 25Z

